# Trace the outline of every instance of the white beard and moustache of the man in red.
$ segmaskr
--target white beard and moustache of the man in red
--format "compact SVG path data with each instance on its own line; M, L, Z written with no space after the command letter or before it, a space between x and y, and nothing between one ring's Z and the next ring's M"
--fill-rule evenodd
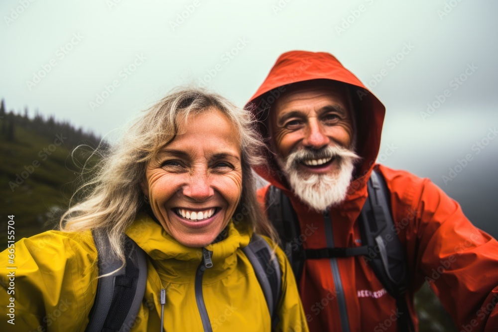
M334 174L305 173L298 168L298 164L304 159L325 157L336 158L334 162L338 163L339 170ZM276 158L280 168L287 174L294 194L317 212L324 212L329 206L344 201L353 178L355 162L359 159L356 153L341 146L327 146L319 152L301 149L289 154L285 162Z

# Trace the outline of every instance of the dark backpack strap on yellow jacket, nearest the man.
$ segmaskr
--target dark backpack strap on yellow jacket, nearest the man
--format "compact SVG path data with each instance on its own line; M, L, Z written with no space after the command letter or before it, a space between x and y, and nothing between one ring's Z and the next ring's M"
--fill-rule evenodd
M256 274L271 317L271 328L278 324L278 302L282 293L282 271L272 249L260 235L253 233L249 244L242 248Z

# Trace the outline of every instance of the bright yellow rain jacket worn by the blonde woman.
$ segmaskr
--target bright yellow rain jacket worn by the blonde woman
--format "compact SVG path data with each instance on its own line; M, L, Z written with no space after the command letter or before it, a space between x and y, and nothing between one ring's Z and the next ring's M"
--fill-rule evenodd
M162 331L161 288L166 289L164 329L203 331L194 289L202 248L180 244L149 217L137 219L126 234L147 254L145 295L128 331ZM242 251L250 236L247 226L230 221L226 239L206 246L213 251L213 267L204 272L202 294L213 332L270 331L263 292ZM289 262L279 248L276 256L282 269L277 331L308 331ZM15 243L14 264L8 264L6 251L0 257L0 331L85 331L99 275L90 231L46 231ZM6 316L12 302L15 325Z

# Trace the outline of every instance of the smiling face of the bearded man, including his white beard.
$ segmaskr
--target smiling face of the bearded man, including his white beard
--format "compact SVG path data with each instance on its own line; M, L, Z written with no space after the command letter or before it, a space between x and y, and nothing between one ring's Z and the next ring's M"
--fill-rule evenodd
M320 80L290 86L271 107L277 161L296 195L315 210L340 203L351 181L358 157L350 104L344 85Z

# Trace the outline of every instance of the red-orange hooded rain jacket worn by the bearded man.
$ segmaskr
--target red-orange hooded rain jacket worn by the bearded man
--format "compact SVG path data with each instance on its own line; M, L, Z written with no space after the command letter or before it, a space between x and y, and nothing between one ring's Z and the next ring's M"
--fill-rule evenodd
M497 240L473 226L460 205L430 180L375 164L385 108L334 56L304 51L282 54L246 109L257 113L261 100L271 106L283 86L314 79L335 80L350 87L357 118L357 153L363 163L355 169L346 200L330 209L332 234L326 234L330 227L325 226L324 216L309 211L289 191L269 154L269 167L255 169L290 198L304 248L326 247L326 236L333 236L336 247L362 245L357 218L367 198L366 183L373 168L378 168L391 193L396 233L405 248L407 299L415 326L413 294L428 282L459 330L498 331ZM279 90L273 90L276 88ZM264 125L260 130L267 136ZM267 189L258 191L262 204ZM336 271L329 259L305 262L299 286L310 331L397 331L395 300L365 260L360 256L334 259Z

